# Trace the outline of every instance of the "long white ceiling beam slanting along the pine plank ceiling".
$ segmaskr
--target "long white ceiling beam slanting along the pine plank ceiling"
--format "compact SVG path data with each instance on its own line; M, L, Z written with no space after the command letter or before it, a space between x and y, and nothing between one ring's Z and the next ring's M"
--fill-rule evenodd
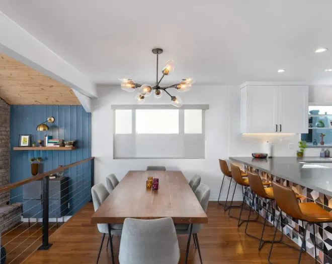
M0 52L70 86L97 97L96 85L0 11ZM68 45L70 43L68 42Z

